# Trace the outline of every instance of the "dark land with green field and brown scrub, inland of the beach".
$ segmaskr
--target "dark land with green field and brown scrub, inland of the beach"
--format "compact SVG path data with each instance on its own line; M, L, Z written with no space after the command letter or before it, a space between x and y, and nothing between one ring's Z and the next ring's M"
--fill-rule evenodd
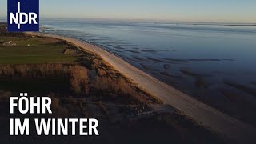
M29 141L23 137L11 138L6 133L10 129L9 118L38 118L33 114L20 115L16 110L15 114L8 114L10 98L17 95L50 98L52 114L43 114L40 118L98 120L98 136L61 134L55 138L55 133L53 137L30 133L30 137L43 143L233 142L206 129L173 106L163 104L98 53L53 35L8 33L5 26L4 23L0 25L0 134L3 142ZM76 130L79 134L81 128Z

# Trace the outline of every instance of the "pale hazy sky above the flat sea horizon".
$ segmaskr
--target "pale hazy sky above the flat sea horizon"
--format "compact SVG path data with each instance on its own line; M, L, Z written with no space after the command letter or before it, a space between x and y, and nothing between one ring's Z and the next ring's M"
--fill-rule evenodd
M0 0L0 17L6 17ZM254 22L256 0L40 0L41 18Z

